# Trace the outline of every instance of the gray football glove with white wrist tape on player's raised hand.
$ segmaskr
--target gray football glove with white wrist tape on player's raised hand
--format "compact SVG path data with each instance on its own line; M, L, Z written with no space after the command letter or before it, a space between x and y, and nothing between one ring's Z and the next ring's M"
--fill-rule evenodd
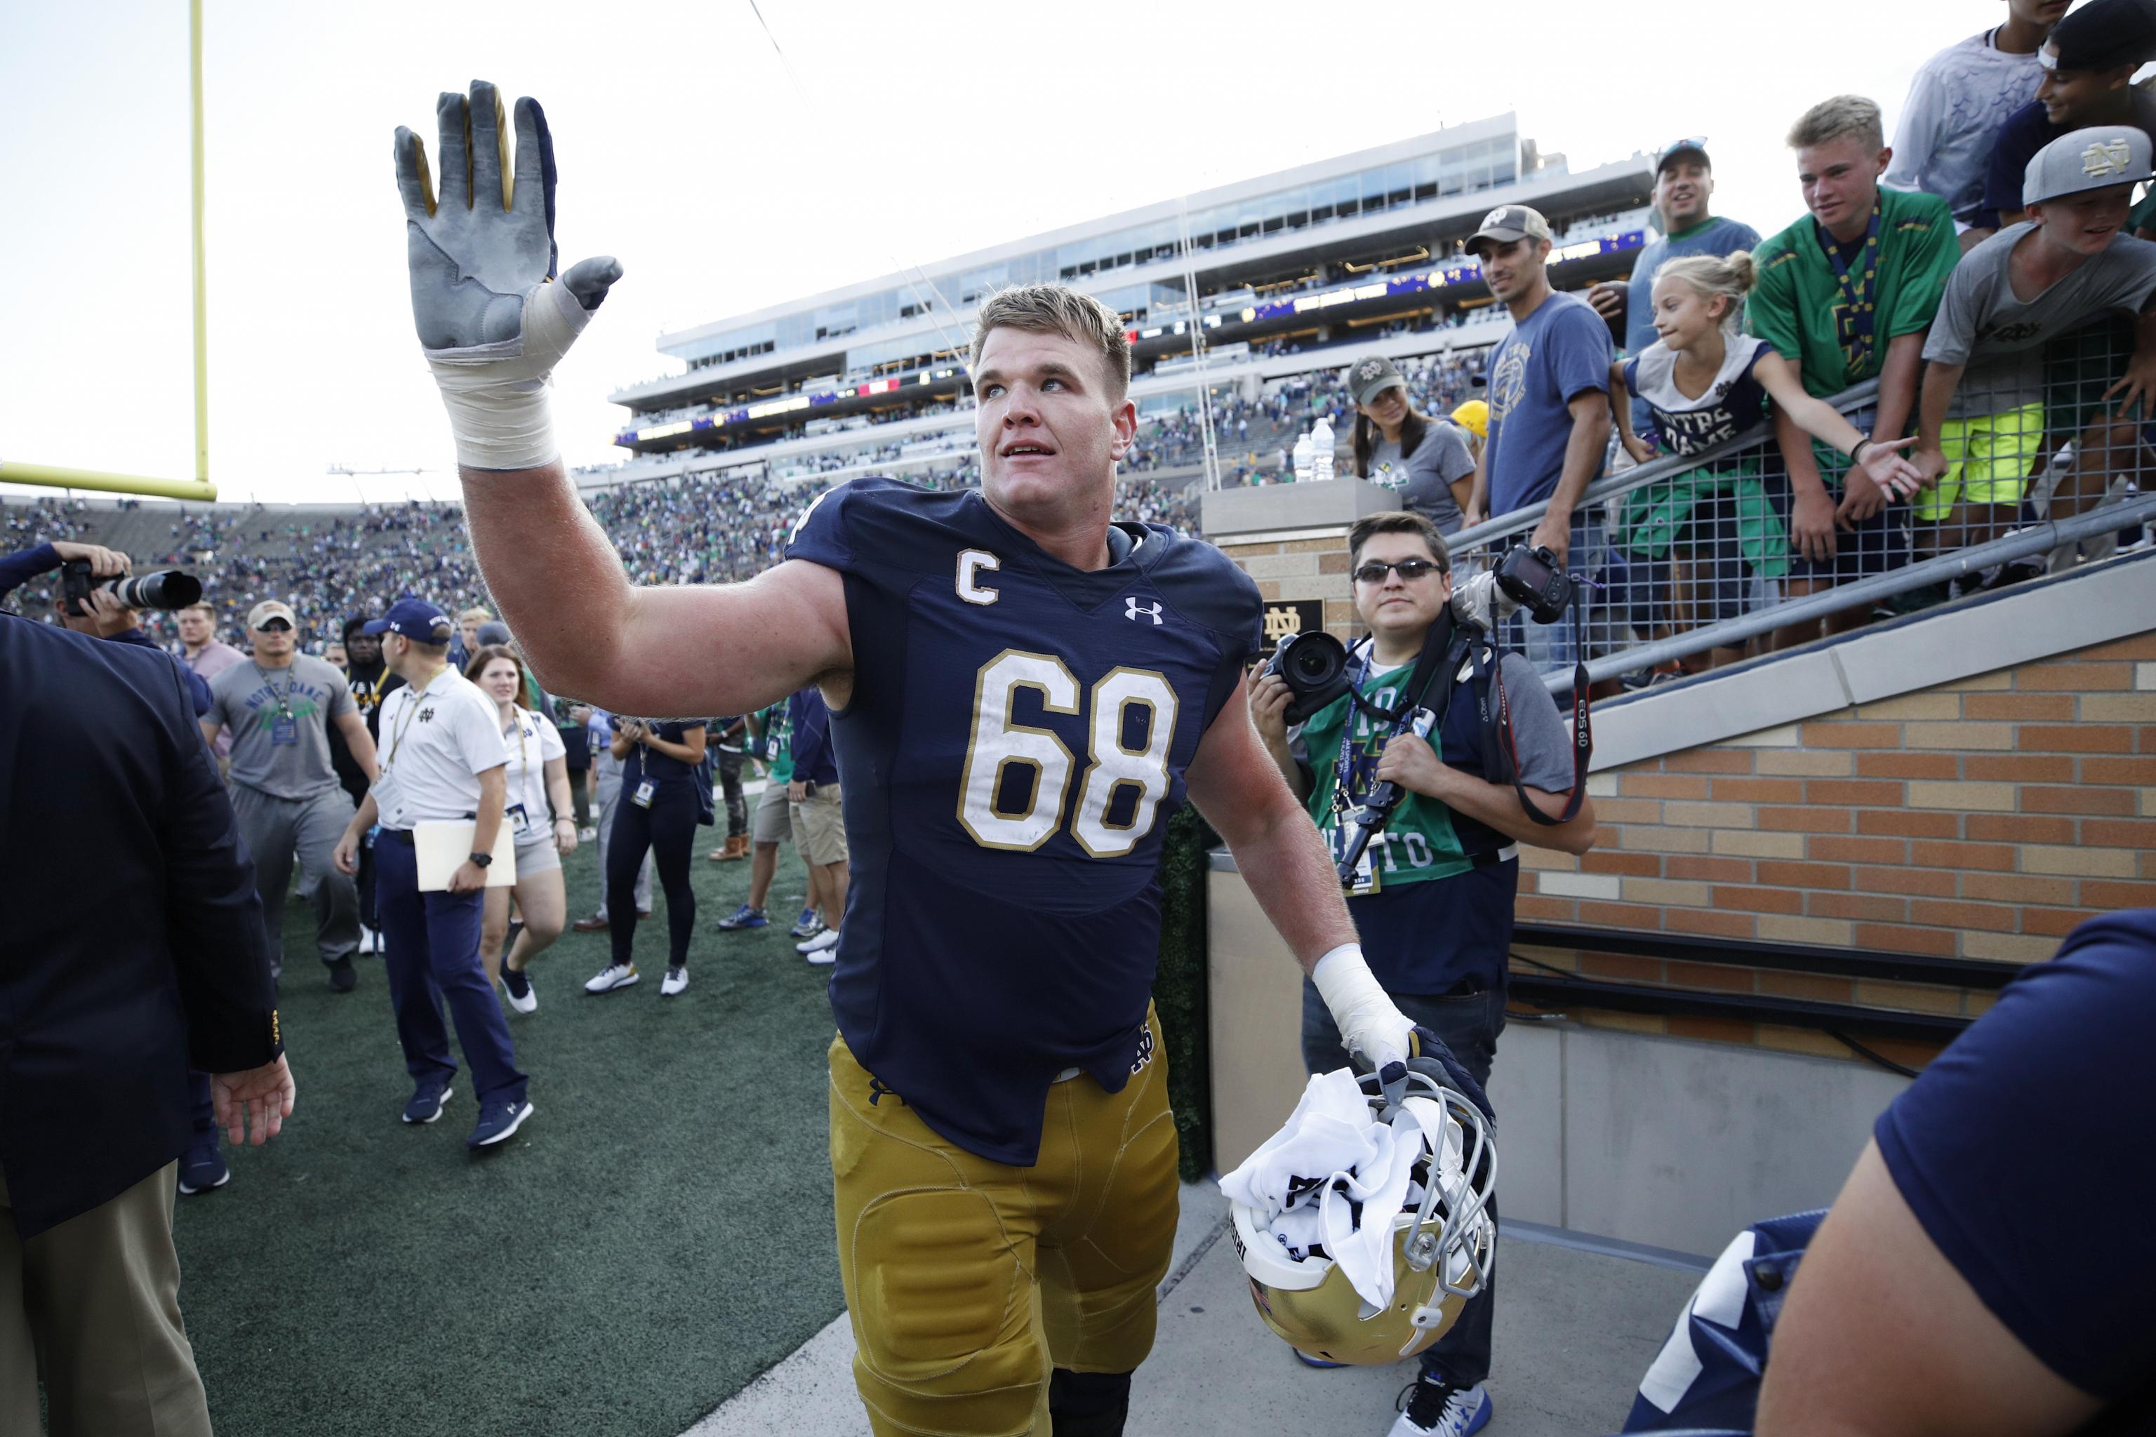
M612 256L586 259L556 282L554 138L539 101L515 106L515 164L502 97L485 80L442 95L442 192L427 147L397 127L397 190L405 207L412 321L442 388L457 461L530 470L561 455L548 377L621 278Z

